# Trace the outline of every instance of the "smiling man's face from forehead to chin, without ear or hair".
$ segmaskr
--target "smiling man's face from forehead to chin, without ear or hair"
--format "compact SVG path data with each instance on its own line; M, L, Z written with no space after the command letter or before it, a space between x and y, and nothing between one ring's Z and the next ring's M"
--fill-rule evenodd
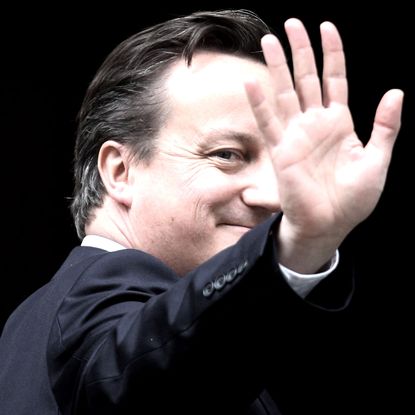
M279 210L275 173L244 90L264 65L199 53L166 80L169 109L150 164L134 167L134 247L184 275Z

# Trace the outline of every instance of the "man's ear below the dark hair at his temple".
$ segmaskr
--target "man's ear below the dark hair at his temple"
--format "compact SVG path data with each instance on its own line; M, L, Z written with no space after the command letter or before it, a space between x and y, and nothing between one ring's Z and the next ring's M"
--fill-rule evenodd
M98 170L107 194L116 202L130 207L132 189L129 181L131 155L125 146L108 140L98 154Z

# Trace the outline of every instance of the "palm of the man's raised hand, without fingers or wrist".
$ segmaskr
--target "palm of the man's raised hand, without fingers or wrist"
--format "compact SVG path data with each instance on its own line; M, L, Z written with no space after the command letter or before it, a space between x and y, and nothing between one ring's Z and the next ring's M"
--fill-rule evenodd
M381 175L364 161L346 107L308 111L283 134L271 151L281 207L294 224L324 232L334 223L352 227L369 214L380 195L381 184L374 181Z

